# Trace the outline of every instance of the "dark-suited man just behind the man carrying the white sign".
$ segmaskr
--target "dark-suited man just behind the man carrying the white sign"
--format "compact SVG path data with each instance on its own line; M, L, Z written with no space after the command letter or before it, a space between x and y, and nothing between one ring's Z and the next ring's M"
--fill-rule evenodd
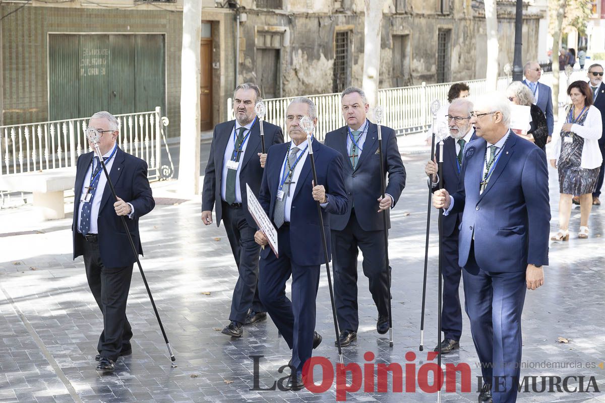
M216 207L217 227L222 219L239 271L230 323L222 331L231 337L241 337L243 324L267 317L257 291L260 250L254 242L257 224L248 211L246 196L246 184L258 193L266 158L261 153L260 124L254 112L260 96L260 88L252 83L235 88L235 120L214 128L201 196L201 221L204 225L212 224L212 208ZM263 128L267 148L284 142L280 127L263 122Z

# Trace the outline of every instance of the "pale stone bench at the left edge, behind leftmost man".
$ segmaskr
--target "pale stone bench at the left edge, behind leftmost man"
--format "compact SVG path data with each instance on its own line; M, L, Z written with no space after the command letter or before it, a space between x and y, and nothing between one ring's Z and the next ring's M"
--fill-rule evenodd
M54 220L65 218L64 191L73 189L75 181L75 167L56 168L0 175L0 189L33 193L34 208L40 218Z

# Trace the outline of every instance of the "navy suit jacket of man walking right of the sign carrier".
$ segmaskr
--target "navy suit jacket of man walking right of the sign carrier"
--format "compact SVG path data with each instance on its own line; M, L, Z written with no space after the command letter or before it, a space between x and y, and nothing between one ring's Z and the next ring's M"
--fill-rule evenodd
M401 161L399 147L397 147L395 132L390 127L381 127L382 160L384 161L385 173L388 172L388 184L385 193L393 196L393 203L396 204L401 191L405 187L405 168ZM330 227L332 230L344 230L351 216L353 202L355 202L355 216L359 226L364 231L382 230L384 228L382 213L378 213L378 198L382 195L380 158L378 155L378 126L374 123L369 124L361 157L359 157L355 170L353 170L348 158L347 137L348 126L325 135L324 144L342 154L345 185L348 192L347 211L342 215L330 216ZM389 214L389 210L384 213ZM391 222L388 218L389 215L387 215L387 224L388 228L391 228Z

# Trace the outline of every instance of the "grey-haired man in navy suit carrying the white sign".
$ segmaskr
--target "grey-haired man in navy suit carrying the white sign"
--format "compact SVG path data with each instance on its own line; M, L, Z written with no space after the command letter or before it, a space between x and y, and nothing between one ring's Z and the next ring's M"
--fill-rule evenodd
M292 374L286 388L303 387L302 367L312 349L321 343L315 330L315 298L319 269L325 263L321 232L330 256L330 215L347 210L342 156L317 140L312 141L317 184L312 184L307 135L299 121L308 116L316 123L316 108L306 97L295 98L286 111L287 144L274 146L267 155L259 201L278 231L278 254L261 251L261 301L281 335L292 349ZM321 202L324 228L319 227L317 202ZM266 245L262 231L255 239ZM292 276L292 301L286 297L286 282ZM304 374L306 375L306 374Z

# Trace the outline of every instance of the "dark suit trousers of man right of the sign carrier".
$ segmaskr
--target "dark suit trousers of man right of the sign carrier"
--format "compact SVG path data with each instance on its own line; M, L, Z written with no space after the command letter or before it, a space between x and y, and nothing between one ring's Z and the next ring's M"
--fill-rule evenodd
M357 301L357 257L364 255L364 275L369 280L370 294L378 315L388 317L388 277L383 231L364 231L355 210L342 231L331 231L334 296L339 329L357 331L359 327ZM389 273L391 268L388 268Z

